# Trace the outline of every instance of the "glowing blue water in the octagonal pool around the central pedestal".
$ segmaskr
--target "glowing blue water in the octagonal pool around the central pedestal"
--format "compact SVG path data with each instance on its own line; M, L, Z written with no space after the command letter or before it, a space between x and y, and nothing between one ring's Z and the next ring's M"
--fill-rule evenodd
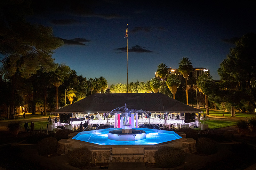
M136 128L132 128L132 129L136 129ZM94 144L100 144L100 145L119 145L119 144L137 144L138 145L138 144L159 144L159 143L182 138L173 131L138 128L138 130L144 130L146 132L146 139L138 140L138 141L115 141L115 140L108 139L108 132L110 130L118 130L118 128L80 132L72 139L90 142Z

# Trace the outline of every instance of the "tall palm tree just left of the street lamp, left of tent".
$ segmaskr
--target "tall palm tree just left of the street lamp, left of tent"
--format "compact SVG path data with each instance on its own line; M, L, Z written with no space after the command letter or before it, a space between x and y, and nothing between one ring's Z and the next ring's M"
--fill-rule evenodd
M62 85L65 78L69 77L70 68L65 64L60 64L55 71L52 71L50 82L56 87L55 109L59 109L59 86Z

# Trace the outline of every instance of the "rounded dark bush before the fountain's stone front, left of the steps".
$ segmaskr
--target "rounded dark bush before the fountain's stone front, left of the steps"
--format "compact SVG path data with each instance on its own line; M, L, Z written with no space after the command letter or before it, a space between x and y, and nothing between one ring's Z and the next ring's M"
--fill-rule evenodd
M91 151L87 148L78 148L68 154L68 163L75 167L85 167L89 164L89 160L92 158Z

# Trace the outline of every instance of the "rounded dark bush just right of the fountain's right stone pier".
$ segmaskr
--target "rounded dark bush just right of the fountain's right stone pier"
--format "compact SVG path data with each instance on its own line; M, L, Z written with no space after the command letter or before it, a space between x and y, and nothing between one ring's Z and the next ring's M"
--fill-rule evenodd
M199 137L196 142L196 150L198 153L206 155L216 153L218 151L217 142L209 138Z

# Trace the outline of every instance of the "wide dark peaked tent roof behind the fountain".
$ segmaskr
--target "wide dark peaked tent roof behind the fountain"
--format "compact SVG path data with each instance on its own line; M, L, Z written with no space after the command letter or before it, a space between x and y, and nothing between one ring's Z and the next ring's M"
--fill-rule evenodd
M201 110L174 100L162 93L92 94L51 113L108 113L117 107L146 110L151 113L198 113Z

